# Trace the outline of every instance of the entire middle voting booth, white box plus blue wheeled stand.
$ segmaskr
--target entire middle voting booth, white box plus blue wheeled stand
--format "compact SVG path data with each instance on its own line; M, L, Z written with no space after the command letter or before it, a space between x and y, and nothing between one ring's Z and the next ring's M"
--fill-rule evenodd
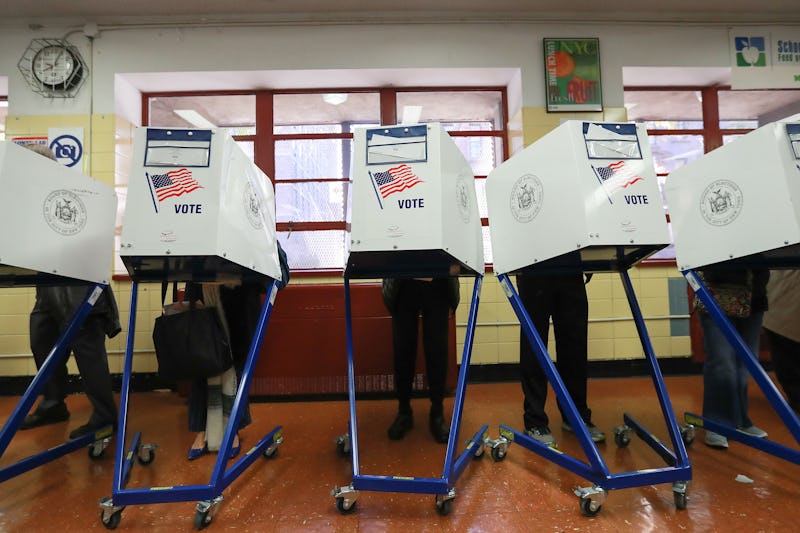
M483 453L481 428L456 457L466 375L472 353L484 273L481 219L469 163L441 124L359 128L354 133L350 235L345 267L349 433L337 439L352 452L353 480L333 496L342 513L355 509L359 490L435 495L436 509L448 514L455 484L470 458ZM355 409L351 278L446 278L474 276L461 368L440 478L375 476L360 473Z

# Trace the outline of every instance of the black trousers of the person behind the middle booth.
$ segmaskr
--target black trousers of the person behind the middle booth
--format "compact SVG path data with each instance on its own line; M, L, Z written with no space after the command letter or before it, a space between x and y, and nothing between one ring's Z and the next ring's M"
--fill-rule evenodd
M447 338L450 318L448 281L404 280L392 316L394 372L400 410L411 409L411 389L417 360L418 317L422 314L422 346L431 410L441 411L447 379Z

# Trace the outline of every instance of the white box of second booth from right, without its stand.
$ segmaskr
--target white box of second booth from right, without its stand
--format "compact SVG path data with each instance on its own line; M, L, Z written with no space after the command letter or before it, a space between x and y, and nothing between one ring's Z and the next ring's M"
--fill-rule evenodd
M493 170L486 198L495 273L619 270L669 244L643 125L567 121Z

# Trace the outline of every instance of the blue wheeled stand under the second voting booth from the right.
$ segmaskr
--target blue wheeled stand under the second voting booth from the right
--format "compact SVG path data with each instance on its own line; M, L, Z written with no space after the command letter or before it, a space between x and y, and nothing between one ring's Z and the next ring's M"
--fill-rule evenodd
M639 338L642 342L645 358L650 366L650 374L653 379L658 401L661 406L661 411L667 423L670 441L672 442L672 449L670 450L662 442L656 439L647 429L636 421L628 414L624 415L624 425L615 428L615 442L620 447L627 446L630 442L630 432L635 431L636 434L644 440L658 455L667 463L666 467L651 468L647 470L639 470L634 472L622 472L612 474L605 461L597 450L597 445L592 441L589 431L581 419L575 407L575 402L570 396L569 392L561 380L561 376L551 360L547 347L542 342L533 322L528 315L522 300L517 294L514 285L508 278L507 274L500 274L498 280L503 290L506 293L514 312L520 321L520 326L525 332L528 342L531 343L533 351L539 364L544 369L547 380L555 391L558 403L562 406L567 415L567 420L575 431L575 436L581 445L588 462L583 462L574 457L571 457L556 449L550 448L545 444L529 437L524 432L516 431L508 426L500 426L500 438L498 440L488 441L492 446L492 457L495 460L501 460L505 457L508 445L511 442L516 442L535 452L545 459L556 463L559 466L578 474L593 483L592 487L576 489L575 494L581 499L581 511L587 516L593 516L600 512L600 508L605 502L606 490L622 489L629 487L640 487L644 485L652 485L656 483L669 483L673 484L673 493L675 496L675 505L679 509L686 507L686 489L687 483L692 477L691 465L689 458L686 454L686 448L683 439L675 420L675 415L672 411L672 405L669 397L667 396L664 387L664 379L661 375L661 369L658 366L655 352L650 343L650 338L645 328L644 319L636 301L636 296L633 292L633 287L628 277L627 271L620 271L623 286L625 287L625 294L628 297L628 303L633 313L633 319L636 323L636 329L639 332Z

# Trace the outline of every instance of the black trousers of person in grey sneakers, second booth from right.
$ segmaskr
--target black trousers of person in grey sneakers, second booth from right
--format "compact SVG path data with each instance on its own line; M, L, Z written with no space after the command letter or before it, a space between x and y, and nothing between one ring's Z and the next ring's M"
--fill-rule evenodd
M592 412L586 405L589 303L583 274L517 276L517 290L536 331L547 346L550 318L556 338L556 369L584 422ZM547 426L544 410L547 376L524 331L520 331L520 370L525 428ZM558 406L566 420L562 406Z

